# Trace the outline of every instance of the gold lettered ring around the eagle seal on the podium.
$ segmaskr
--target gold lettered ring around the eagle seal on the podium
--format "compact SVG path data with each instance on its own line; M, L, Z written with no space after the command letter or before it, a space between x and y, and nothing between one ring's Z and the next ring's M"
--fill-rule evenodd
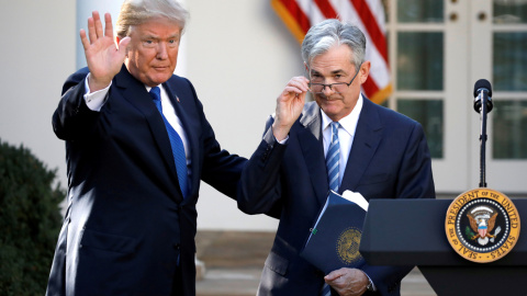
M467 248L463 246L461 242L462 239L458 237L458 232L456 231L456 220L458 218L459 210L468 203L480 198L486 198L498 203L508 215L508 224L511 228L509 235L500 248L490 252L476 252ZM448 207L445 219L445 232L452 249L462 258L476 263L493 262L502 259L504 255L511 252L518 241L519 227L519 214L511 198L498 191L484 187L469 190L456 197Z

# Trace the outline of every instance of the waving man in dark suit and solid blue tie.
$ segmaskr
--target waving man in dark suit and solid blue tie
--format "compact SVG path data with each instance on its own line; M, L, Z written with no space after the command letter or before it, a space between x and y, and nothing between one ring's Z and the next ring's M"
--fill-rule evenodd
M245 159L222 150L189 80L173 75L187 11L126 0L80 32L88 68L53 115L68 210L47 295L195 295L200 180L234 197ZM117 44L117 45L116 45Z

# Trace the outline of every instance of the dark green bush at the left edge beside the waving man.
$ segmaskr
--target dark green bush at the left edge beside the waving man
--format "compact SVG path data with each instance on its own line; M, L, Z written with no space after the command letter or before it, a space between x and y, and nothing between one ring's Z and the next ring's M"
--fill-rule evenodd
M0 139L1 295L45 294L65 196L55 178L29 149Z

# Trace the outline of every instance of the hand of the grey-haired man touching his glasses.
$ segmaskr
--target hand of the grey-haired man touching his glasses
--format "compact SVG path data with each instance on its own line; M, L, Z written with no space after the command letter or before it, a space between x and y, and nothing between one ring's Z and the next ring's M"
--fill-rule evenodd
M277 140L282 140L288 136L291 126L302 113L309 82L310 80L305 77L293 77L278 96L276 117L272 124L272 134Z

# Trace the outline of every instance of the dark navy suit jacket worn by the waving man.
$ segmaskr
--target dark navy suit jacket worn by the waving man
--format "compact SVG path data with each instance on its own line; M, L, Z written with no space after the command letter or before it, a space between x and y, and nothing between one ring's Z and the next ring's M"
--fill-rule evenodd
M85 68L67 79L53 115L66 140L69 205L47 295L170 295L178 264L179 288L195 295L200 180L235 196L246 159L221 149L192 84L172 76L164 87L191 150L183 200L164 121L144 84L123 66L93 112L82 99L87 75Z

